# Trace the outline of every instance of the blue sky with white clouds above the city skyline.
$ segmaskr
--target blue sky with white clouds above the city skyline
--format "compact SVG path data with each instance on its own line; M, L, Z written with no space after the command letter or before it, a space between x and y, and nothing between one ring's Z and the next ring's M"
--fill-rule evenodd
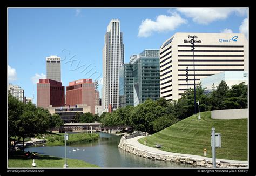
M111 19L120 20L126 63L144 49L159 49L176 32L248 36L247 8L9 8L8 82L21 86L26 97L34 95L36 103L36 82L45 77L50 55L62 58L63 86L100 80Z

